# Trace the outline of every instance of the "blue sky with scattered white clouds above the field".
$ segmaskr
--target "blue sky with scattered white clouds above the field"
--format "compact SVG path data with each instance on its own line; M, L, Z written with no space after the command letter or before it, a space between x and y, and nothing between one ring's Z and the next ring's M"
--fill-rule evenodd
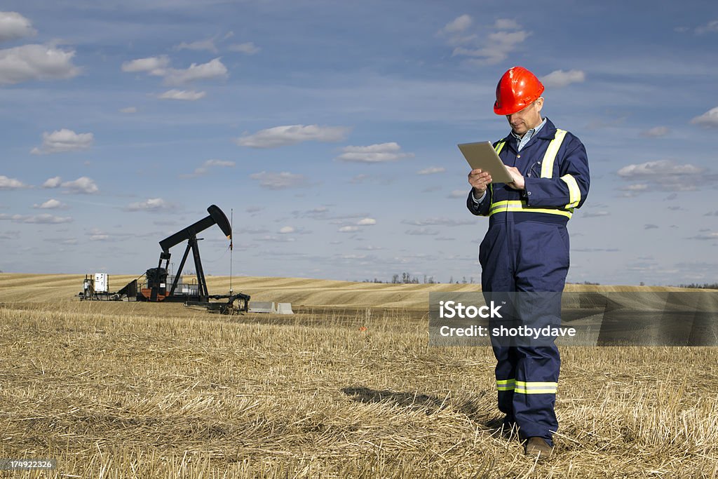
M487 220L456 144L508 133L495 85L523 65L589 153L569 281L718 279L715 2L0 10L2 271L141 274L214 203L235 274L478 282ZM229 274L222 233L202 236Z

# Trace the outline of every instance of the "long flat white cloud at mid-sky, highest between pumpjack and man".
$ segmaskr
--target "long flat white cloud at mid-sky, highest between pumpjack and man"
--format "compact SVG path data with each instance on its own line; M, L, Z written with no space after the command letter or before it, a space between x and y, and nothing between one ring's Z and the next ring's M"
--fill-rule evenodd
M285 125L243 134L235 141L241 147L276 148L303 141L343 141L350 131L347 126Z

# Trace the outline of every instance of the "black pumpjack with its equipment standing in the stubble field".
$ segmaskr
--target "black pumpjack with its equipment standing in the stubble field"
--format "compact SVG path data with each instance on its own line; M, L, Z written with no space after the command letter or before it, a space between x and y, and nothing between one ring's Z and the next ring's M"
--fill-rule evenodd
M209 215L205 218L187 226L187 228L183 230L177 231L177 233L173 235L167 236L167 238L159 242L162 252L159 254L157 267L150 268L145 272L146 282L144 285L138 288L138 280L134 279L118 292L108 293L107 298L126 298L129 300L136 299L138 301L149 302L185 302L188 306L202 306L208 308L208 310L222 313L248 311L250 299L248 294L233 294L231 289L230 294L209 294L205 271L202 269L202 261L200 260L198 241L202 238L197 238L197 234L205 231L212 225L218 225L222 233L224 233L230 241L230 249L233 247L233 244L232 225L230 225L223 211L220 210L217 205L210 205L210 207L207 208L207 212ZM170 275L167 273L169 259L172 256L172 254L169 253L169 249L182 243L182 241L187 241L185 254L182 256L182 261L180 261L180 267L174 274ZM187 258L190 256L190 251L192 251L192 259L195 262L197 284L185 284L182 282L182 269L184 269ZM162 266L162 261L164 261L164 266ZM171 285L169 285L168 279L169 282L172 283ZM93 299L92 297L86 296L86 294L85 297L81 295L80 299ZM210 302L210 299L227 299L227 302ZM235 304L235 302L238 302L238 304Z

